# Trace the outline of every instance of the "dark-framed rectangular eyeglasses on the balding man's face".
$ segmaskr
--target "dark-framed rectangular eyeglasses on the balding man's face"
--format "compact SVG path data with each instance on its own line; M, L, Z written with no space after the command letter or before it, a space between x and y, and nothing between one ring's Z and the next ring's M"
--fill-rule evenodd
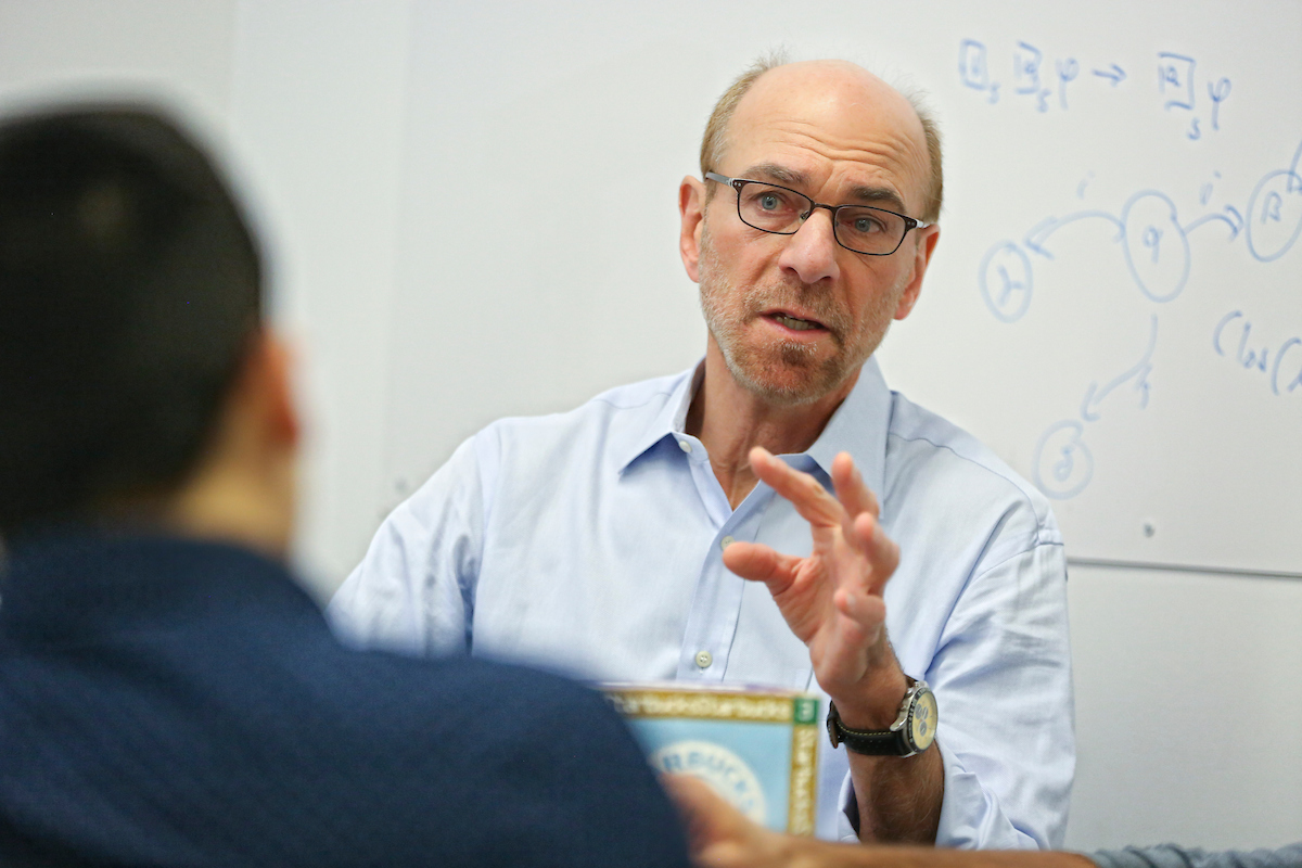
M910 229L926 229L931 225L883 208L823 204L803 193L764 181L729 178L717 172L706 172L706 178L727 183L737 191L737 216L747 226L776 236L794 236L814 213L814 208L827 208L832 212L832 236L836 243L868 256L889 256L900 250Z

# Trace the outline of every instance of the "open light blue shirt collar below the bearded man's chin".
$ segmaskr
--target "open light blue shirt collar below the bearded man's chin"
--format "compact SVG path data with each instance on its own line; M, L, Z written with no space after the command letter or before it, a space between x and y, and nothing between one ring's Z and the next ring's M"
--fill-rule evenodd
M704 376L704 359L680 375L673 390L660 411L651 419L646 432L634 440L628 454L621 457L620 472L646 454L665 437L682 436L687 426L687 409ZM823 433L805 453L824 475L831 476L832 459L840 452L850 453L863 475L865 484L881 497L885 479L887 428L891 423L891 390L881 377L875 357L870 357L859 370L859 379L828 420Z

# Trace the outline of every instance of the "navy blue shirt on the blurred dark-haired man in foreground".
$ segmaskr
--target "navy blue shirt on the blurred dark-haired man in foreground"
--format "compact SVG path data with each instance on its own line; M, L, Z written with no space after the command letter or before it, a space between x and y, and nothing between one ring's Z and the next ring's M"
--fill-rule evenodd
M0 575L0 864L685 865L595 692L345 648L249 550L78 532Z

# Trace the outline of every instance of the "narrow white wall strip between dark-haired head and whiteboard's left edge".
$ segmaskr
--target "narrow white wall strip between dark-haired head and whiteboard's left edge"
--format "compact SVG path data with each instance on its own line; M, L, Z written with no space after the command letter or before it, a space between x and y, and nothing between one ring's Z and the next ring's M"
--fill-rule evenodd
M230 134L275 230L309 432L298 560L326 596L380 518L410 8L238 4Z

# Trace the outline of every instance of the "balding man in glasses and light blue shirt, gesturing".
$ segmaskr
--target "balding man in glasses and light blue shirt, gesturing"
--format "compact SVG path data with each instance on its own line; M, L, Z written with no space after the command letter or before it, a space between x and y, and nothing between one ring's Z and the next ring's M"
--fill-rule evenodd
M678 204L704 360L465 442L384 522L335 622L595 679L822 690L855 750L824 744L820 837L1060 842L1057 526L871 359L939 238L934 125L852 64L766 62L720 99L700 168ZM870 734L926 707L922 681L939 735L906 756L926 746Z

